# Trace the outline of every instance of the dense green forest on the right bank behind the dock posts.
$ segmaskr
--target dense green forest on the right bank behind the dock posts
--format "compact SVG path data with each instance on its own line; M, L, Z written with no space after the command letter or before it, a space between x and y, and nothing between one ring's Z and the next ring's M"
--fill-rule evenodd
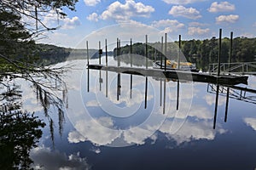
M168 42L166 49L166 56L168 59L177 59L178 43ZM165 45L164 45L165 46ZM121 47L121 54L139 54L145 56L145 43L138 42ZM183 60L193 62L197 68L203 71L208 70L208 65L218 62L218 38L205 40L186 40L181 42L181 52L183 53ZM116 54L116 48L113 50ZM161 43L148 43L148 58L160 59ZM230 56L230 38L224 37L221 43L221 62L228 62ZM256 38L236 37L233 39L231 62L253 62L256 58ZM181 58L182 59L182 58Z

